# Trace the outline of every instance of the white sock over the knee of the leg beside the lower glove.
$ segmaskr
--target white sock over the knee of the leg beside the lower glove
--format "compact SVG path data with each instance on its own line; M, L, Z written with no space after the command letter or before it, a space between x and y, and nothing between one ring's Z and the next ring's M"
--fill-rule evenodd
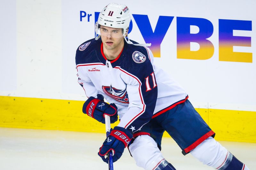
M135 138L129 150L136 165L146 170L152 170L164 157L153 138L141 135Z

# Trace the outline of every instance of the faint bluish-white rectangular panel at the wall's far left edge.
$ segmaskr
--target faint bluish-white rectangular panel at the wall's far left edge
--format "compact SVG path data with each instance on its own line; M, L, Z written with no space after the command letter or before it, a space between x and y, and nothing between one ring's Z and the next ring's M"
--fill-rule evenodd
M0 21L0 91L14 92L17 87L15 0L0 5Z

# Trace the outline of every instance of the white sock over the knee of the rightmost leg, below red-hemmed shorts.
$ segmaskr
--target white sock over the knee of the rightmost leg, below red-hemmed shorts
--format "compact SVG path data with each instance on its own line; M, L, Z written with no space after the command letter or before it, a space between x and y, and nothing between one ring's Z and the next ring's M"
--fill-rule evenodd
M225 161L228 150L214 138L209 137L190 153L203 164L217 168Z

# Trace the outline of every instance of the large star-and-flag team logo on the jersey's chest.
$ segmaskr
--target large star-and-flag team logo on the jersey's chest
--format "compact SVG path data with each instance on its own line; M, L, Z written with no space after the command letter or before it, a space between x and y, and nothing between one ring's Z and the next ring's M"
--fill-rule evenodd
M113 88L111 85L109 86L102 86L102 90L106 95L112 97L113 99L122 102L122 103L129 103L129 98L126 89L119 90Z

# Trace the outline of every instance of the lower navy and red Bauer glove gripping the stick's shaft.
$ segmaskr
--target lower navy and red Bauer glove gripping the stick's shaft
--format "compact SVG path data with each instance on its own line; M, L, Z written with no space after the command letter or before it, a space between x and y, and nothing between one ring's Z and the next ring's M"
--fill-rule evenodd
M122 156L124 148L130 143L131 140L132 133L130 131L124 129L123 127L116 126L110 132L105 142L103 142L98 155L104 162L108 163L108 158L105 158L105 155L108 154L110 150L113 150L113 162L116 162Z

